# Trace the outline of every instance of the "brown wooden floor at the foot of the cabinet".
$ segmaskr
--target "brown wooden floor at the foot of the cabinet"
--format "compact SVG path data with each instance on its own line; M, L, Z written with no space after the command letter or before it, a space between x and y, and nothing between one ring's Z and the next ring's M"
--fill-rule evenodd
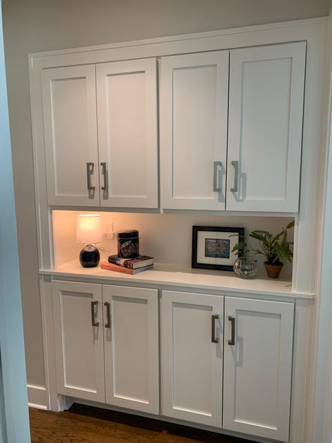
M250 443L79 404L63 413L30 409L30 429L32 443Z

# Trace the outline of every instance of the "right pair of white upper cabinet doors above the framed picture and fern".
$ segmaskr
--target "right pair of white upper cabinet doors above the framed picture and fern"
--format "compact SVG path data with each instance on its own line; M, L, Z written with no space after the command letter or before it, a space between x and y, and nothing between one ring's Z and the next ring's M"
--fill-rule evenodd
M297 212L305 60L305 42L161 58L163 208Z

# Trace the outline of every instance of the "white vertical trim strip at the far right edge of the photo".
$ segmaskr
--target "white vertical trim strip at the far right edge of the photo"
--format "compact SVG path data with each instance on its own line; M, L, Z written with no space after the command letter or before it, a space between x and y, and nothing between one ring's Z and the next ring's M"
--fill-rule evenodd
M319 253L317 256L317 308L313 329L313 368L310 442L331 443L332 433L332 303L331 303L331 219L332 219L332 17L328 19L326 48L326 153L322 163L323 192L320 221Z

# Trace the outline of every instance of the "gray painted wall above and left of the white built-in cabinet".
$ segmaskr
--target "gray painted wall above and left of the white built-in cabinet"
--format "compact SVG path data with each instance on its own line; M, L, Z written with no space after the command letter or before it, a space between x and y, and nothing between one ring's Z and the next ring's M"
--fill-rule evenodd
M30 52L329 14L331 0L6 0L3 30L28 383L44 385L30 131Z

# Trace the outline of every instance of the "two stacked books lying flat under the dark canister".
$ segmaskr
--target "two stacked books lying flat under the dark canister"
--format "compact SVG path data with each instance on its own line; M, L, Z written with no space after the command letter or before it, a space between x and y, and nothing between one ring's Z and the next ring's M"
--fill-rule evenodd
M110 255L109 261L100 265L102 269L131 275L147 271L153 268L153 266L154 257L149 257L148 255L138 255L136 258L120 258L118 255Z

